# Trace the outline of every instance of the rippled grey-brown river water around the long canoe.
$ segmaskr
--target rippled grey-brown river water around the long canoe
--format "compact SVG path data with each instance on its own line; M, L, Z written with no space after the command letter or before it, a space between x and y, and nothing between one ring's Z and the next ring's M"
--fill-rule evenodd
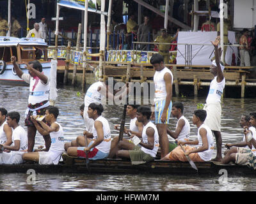
M20 125L24 126L24 112L28 103L28 87L1 85L0 106L8 112L20 113ZM83 103L84 94L77 94L77 89L70 87L58 89L56 106L60 108L58 122L65 131L65 141L83 135L84 122L79 115L79 106ZM205 103L205 98L173 98L173 101L184 103L184 115L191 124L191 138L196 138L197 129L192 124L193 111L198 103ZM221 135L223 152L225 143L240 142L243 129L239 120L243 113L255 111L256 99L224 98L222 103ZM111 123L112 136L118 136L113 124L119 124L123 106L104 106L102 113ZM176 119L171 118L170 129L175 129ZM129 119L125 125L128 126ZM44 145L44 139L36 134L35 147ZM214 150L216 155L216 150ZM215 156L214 155L214 156ZM213 157L214 157L213 156ZM0 167L1 168L1 167ZM182 175L111 175L111 174L44 174L36 173L33 184L27 182L26 173L0 174L0 191L255 191L256 177L228 176L226 181L220 177L182 176ZM221 175L220 175L221 176Z

